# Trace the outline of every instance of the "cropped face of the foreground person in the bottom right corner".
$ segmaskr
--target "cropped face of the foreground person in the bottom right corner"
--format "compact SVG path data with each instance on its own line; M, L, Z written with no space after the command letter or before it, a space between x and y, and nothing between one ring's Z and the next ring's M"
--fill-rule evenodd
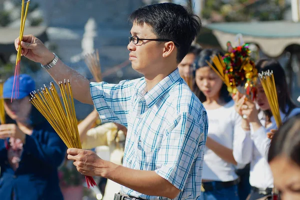
M300 200L300 167L283 155L274 158L269 165L281 199Z

